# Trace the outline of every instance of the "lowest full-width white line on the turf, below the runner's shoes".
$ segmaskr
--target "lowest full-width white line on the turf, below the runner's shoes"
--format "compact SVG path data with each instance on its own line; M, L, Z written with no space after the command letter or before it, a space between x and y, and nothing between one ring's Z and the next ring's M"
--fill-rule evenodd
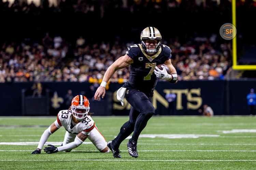
M256 160L139 160L139 159L132 159L132 160L125 160L125 159L35 159L35 160L18 160L18 159L9 159L9 160L0 160L0 161L74 161L74 160L82 160L82 161L162 161L162 162L175 162L175 161L195 161L195 162L234 162L234 161L256 161Z

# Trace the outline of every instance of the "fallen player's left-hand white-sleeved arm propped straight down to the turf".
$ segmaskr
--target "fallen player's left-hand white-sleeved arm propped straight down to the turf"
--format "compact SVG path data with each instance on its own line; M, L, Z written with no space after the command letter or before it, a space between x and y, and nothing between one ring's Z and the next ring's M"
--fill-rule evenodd
M57 127L55 125L55 122L53 122L53 124L51 126L49 126L49 128L47 128L44 133L42 134L37 150L33 151L31 154L40 154L42 147L44 146L45 142L47 141L48 137L53 134L55 131L57 131L60 127Z

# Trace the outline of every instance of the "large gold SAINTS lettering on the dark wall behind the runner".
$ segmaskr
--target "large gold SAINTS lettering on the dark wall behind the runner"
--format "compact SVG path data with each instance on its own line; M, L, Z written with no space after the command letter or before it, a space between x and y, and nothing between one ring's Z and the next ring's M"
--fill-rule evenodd
M187 97L187 109L196 110L202 105L201 96L201 88L197 89L164 89L163 92L168 94L170 91L176 94L176 109L182 110L184 107L182 106L182 95L185 94ZM114 110L123 110L123 109L131 109L131 105L124 99L124 106L116 99L117 90L113 93L113 109ZM197 95L198 97L192 96L192 94ZM166 108L169 107L168 101L162 97L156 90L154 90L154 96L152 99L153 106L157 109L157 101L161 103ZM115 103L117 102L117 103ZM196 102L196 104L192 104L191 102Z

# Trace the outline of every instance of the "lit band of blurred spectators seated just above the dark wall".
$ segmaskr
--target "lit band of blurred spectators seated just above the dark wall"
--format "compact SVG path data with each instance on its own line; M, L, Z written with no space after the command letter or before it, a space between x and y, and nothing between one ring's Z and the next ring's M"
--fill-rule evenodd
M217 45L217 35L190 37L184 44L179 39L163 41L172 49L172 63L179 80L219 80L231 65L231 44ZM108 67L123 56L126 47L119 39L111 44L87 43L80 36L74 49L61 36L46 33L41 43L3 43L0 48L0 82L70 81L97 82ZM129 67L118 70L112 82L123 83L129 78Z

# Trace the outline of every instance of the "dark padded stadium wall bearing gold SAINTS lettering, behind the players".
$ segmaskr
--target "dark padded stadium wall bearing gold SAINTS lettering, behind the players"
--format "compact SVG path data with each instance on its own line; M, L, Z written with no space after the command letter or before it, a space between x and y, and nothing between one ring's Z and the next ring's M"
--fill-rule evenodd
M125 100L122 106L116 99L116 91L122 84L111 83L105 98L94 101L96 88L91 83L42 82L45 102L37 95L31 100L32 85L31 82L0 83L0 116L57 115L70 106L71 101L65 99L69 89L73 96L85 95L90 102L90 112L95 115L129 115L131 106L128 102ZM248 115L246 95L255 87L256 81L180 81L176 84L159 81L153 97L155 114L200 115L198 110L207 104L214 115ZM165 95L170 91L176 94L176 100L169 103Z

